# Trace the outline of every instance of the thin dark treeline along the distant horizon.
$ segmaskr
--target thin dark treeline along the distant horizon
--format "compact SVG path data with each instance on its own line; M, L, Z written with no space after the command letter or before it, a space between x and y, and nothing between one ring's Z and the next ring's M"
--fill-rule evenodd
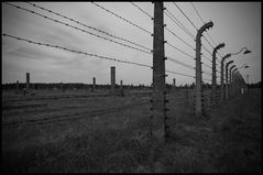
M17 87L17 83L12 84L4 84L2 85L2 89L4 90L11 90L11 89L24 89L26 88L25 83L19 83L19 86ZM185 84L184 86L175 86L175 88L180 89L194 89L195 84L193 83L191 85ZM218 88L220 86L218 85ZM94 85L92 84L80 84L80 83L31 83L30 84L30 89L92 89ZM110 89L111 85L96 85L96 89ZM120 85L116 85L116 88L119 89ZM152 86L146 86L146 85L123 85L123 89L152 89ZM166 84L167 89L172 89L173 85ZM211 85L209 84L202 84L202 88L208 89L211 88Z

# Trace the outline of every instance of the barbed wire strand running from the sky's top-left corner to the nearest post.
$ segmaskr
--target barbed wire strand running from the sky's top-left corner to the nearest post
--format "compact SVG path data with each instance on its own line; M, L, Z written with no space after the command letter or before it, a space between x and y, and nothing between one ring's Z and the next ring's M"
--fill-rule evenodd
M90 34L90 35L94 35L94 36L97 36L97 37L100 37L100 39L110 41L110 42L112 42L112 43L116 43L116 44L119 44L119 45L122 45L122 46L125 46L125 47L129 47L129 48L133 48L133 50L136 50L136 51L141 51L141 52L143 52L143 53L152 54L151 52L147 52L147 51L144 51L144 50L141 50L141 48L136 48L136 47L133 47L133 46L130 46L130 45L127 45L127 44L123 44L123 43L113 41L113 40L111 40L111 39L107 39L107 37L100 36L100 35L98 35L98 34L94 34L94 33L91 33L91 32L89 32L89 31L79 29L79 28L77 28L77 26L70 25L70 24L68 24L68 23L65 23L65 22L62 22L62 21L58 21L58 20L54 20L54 19L48 18L48 17L46 17L46 15L40 14L40 13L37 13L37 12L35 12L35 11L32 11L32 10L29 10L29 9L24 9L24 8L21 8L21 7L19 7L19 6L14 6L14 4L9 3L9 2L4 2L4 3L6 3L6 4L9 4L9 6L12 6L12 7L15 7L15 8L18 8L18 9L24 10L24 11L28 11L28 12L30 12L30 13L36 14L36 15L42 17L42 18L44 18L44 19L48 19L48 20L51 20L51 21L53 21L53 22L61 23L61 24L64 24L64 25L66 25L66 26L76 29L76 30L81 31L81 32L84 32L84 33L88 33L88 34Z

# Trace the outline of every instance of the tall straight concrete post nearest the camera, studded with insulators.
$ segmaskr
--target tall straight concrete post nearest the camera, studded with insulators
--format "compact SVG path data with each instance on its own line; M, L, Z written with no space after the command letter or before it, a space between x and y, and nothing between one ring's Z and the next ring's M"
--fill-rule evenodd
M166 140L166 108L165 108L165 56L164 56L164 11L163 2L154 2L154 30L153 30L153 97L151 132L158 140Z

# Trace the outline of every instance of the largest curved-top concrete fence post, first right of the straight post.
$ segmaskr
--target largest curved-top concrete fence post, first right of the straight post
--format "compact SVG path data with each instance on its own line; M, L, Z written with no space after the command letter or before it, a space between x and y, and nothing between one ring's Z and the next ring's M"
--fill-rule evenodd
M201 36L202 32L212 28L213 23L210 21L204 24L196 34L196 88L195 88L195 116L204 114L202 109L202 90L201 90Z

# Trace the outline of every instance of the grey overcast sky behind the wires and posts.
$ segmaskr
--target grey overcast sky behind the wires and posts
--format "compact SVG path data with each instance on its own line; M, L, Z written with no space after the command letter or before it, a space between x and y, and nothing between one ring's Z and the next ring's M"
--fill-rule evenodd
M29 3L11 3L33 10L55 20L66 22L95 34L112 39L106 34L101 34L55 14L37 9ZM132 6L131 2L96 3L153 33L153 21L150 17ZM134 3L153 17L153 3ZM151 34L122 21L91 2L35 2L35 4L75 19L84 24L97 28L112 35L141 44L144 47L151 50L153 48ZM176 4L187 14L198 29L204 24L190 2L176 2ZM240 53L239 55L232 56L231 59L234 61L237 67L241 67L243 64L250 66L246 69L240 69L240 73L244 76L244 78L245 75L249 75L250 83L260 81L262 37L261 2L194 2L194 4L205 22L213 22L213 28L208 31L213 41L211 41L205 32L205 36L210 44L215 47L216 44L222 42L226 43L226 46L219 51L221 56L228 53L237 53L244 46L252 51L252 53L248 55ZM196 29L189 21L187 21L175 4L172 2L164 2L164 7L166 7L167 10L190 31L191 34L196 35ZM195 47L194 39L187 35L176 23L167 18L167 15L164 15L164 23L167 24L167 28L171 31L182 37L191 47ZM151 54L99 39L6 3L2 3L2 33L46 44L54 44L70 50L152 66L153 57ZM167 31L165 31L165 40L172 45L195 57L195 51L190 46L186 45ZM120 40L116 41L141 48ZM210 53L212 52L211 46L204 37L201 39L201 43L210 51ZM201 52L205 56L211 59L211 55L209 55L204 48ZM219 54L217 54L218 70L220 70L221 59ZM182 54L167 44L165 45L165 56L175 58L195 67L194 58ZM211 62L208 62L204 57L201 59L205 64L211 66ZM2 84L15 83L17 80L24 83L25 73L31 74L32 83L63 81L91 84L92 77L96 77L97 84L110 84L110 66L116 66L117 84L119 84L121 79L123 80L123 84L133 85L150 85L152 81L152 69L147 67L99 59L97 57L85 56L58 48L40 46L2 36ZM191 76L195 75L194 69L175 64L171 61L166 61L165 66L168 70ZM207 66L202 65L202 70L211 74L211 68ZM191 84L195 81L193 77L171 73L167 73L167 84L172 84L173 78L176 78L176 85ZM205 79L211 79L211 75L204 74L202 77ZM209 80L205 81L210 83ZM217 83L219 84L219 77Z

